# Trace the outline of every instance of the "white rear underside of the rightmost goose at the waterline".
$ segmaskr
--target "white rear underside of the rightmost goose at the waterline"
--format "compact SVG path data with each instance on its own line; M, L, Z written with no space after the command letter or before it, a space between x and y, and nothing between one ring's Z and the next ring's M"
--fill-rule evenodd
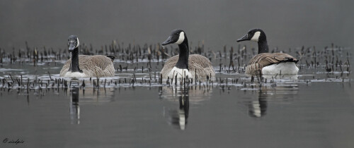
M299 68L294 62L275 63L262 68L263 75L297 75Z

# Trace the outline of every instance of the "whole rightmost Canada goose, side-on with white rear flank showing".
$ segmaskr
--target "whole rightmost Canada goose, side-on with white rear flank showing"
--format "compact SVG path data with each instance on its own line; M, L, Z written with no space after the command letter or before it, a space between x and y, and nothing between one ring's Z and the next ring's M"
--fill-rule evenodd
M258 42L258 54L251 58L246 67L246 74L249 75L297 75L297 59L284 53L268 53L268 43L265 33L261 29L252 29L237 39L237 42L251 40Z

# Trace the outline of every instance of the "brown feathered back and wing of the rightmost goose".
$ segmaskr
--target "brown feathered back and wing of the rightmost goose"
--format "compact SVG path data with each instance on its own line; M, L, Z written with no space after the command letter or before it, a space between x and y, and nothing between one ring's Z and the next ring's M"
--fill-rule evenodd
M259 75L262 73L262 69L265 66L270 66L272 64L286 63L292 62L297 63L297 59L289 54L284 53L262 53L257 54L246 66L246 74L249 75ZM287 74L286 72L283 74Z

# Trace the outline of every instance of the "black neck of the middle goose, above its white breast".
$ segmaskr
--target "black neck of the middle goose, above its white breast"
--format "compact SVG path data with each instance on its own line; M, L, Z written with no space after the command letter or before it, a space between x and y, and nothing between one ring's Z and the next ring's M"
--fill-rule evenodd
M189 47L188 39L185 37L184 41L181 44L178 44L179 47L179 58L176 63L176 68L188 69L188 58L189 58Z

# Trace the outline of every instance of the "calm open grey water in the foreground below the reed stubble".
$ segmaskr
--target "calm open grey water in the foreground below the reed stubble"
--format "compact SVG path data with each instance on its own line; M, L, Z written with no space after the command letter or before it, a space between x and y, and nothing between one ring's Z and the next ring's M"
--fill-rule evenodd
M79 90L77 105L60 89L1 92L1 137L24 140L19 147L353 147L348 83L190 90L188 111L163 89Z

